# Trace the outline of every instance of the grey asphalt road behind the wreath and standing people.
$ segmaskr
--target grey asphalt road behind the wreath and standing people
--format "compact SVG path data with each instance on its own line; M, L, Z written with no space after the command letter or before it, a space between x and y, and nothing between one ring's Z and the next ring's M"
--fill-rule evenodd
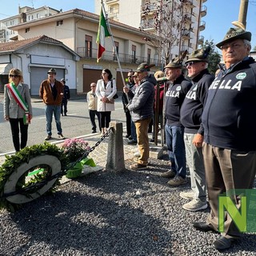
M33 119L29 127L27 146L40 144L46 137L46 118L44 104L40 100L33 100ZM91 133L90 117L85 99L70 100L68 102L68 115L61 118L63 135L66 138L84 136ZM126 116L122 109L121 98L115 102L115 110L111 114L111 121L123 122L126 125ZM98 128L98 127L97 127ZM0 155L10 154L14 151L11 138L10 123L3 118L3 105L0 102ZM50 142L57 142L58 134L53 118L52 138Z

